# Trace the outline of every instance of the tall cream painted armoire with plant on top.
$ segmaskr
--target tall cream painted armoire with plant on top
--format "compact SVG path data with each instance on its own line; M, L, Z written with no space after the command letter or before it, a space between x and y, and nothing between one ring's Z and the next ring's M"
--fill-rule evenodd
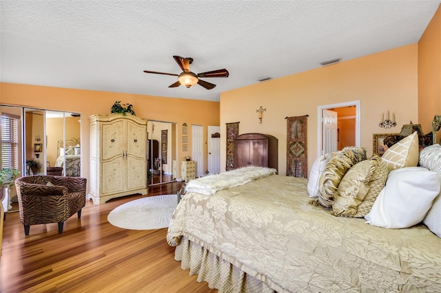
M90 116L89 182L94 204L147 194L147 121L119 113Z

